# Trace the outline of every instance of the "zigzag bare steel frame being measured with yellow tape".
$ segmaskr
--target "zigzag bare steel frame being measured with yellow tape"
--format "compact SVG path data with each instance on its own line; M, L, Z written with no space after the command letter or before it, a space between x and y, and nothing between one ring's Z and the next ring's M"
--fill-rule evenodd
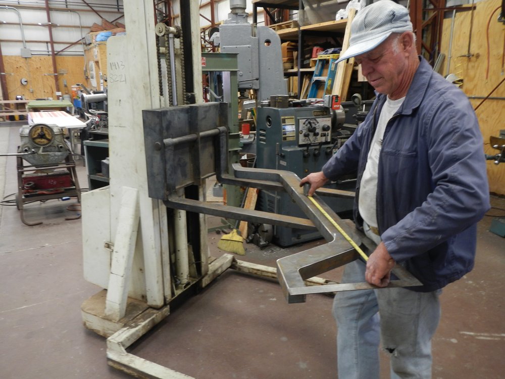
M367 282L341 283L325 286L306 286L305 280L334 268L343 266L356 259L360 259L358 252L344 239L337 228L317 209L309 198L303 194L299 186L300 179L294 173L281 170L258 170L250 168L235 169L235 176L248 179L264 178L282 184L291 199L304 211L305 215L314 223L328 244L299 252L277 260L277 278L288 303L305 302L307 294L320 294L339 291L377 289L378 287ZM325 195L332 191L323 192ZM335 193L334 196L342 196ZM333 212L316 195L315 200L321 208L351 237L363 250L373 252L375 245L363 233L350 227ZM361 235L360 235L361 234ZM395 265L392 274L396 279L390 281L386 288L421 286L422 283L401 265Z

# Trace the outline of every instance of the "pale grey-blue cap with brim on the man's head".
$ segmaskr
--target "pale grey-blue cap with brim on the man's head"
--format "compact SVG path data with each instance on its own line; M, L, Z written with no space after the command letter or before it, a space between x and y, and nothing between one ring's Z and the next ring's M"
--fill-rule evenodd
M412 31L409 10L391 0L379 0L358 12L350 25L349 48L338 62L374 50L391 33Z

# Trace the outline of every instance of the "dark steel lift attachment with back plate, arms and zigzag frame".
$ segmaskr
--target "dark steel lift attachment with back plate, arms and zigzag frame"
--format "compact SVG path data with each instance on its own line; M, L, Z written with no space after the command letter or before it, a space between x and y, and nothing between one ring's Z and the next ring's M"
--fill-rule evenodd
M325 189L316 192L319 207L304 195L300 178L292 172L272 169L255 169L231 165L228 173L226 104L207 103L144 111L145 145L148 167L149 196L164 201L169 208L227 217L250 222L317 228L328 242L304 252L277 261L277 277L289 303L304 302L307 294L377 288L369 283L347 283L306 287L305 279L329 271L359 258L356 249L340 234L320 209L331 217L358 246L371 241L360 238L354 228L343 222L318 195L349 197L354 194ZM161 122L160 122L161 121ZM181 125L186 125L185 127ZM190 126L188 126L190 125ZM178 131L177 128L180 130ZM190 130L189 130L190 129ZM209 158L214 157L214 165ZM245 210L178 195L178 190L188 184L201 183L206 177L216 175L224 184L254 186L260 189L285 191L300 207L308 219ZM363 244L365 242L365 244ZM393 269L398 278L388 287L418 286L421 283L401 266Z

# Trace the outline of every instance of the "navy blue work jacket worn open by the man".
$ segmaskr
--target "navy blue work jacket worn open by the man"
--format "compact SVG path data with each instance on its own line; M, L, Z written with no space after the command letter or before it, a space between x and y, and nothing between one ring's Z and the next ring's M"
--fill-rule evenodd
M389 120L379 158L377 221L382 241L423 286L440 289L474 265L477 222L489 206L483 138L475 112L461 89L420 65L405 101ZM329 179L357 172L360 182L386 96L341 149L323 166Z

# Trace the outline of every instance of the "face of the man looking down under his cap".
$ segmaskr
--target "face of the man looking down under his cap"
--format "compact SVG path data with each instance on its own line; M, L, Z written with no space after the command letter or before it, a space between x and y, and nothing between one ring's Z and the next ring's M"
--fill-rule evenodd
M391 35L374 50L356 57L368 82L379 93L388 94L393 99L401 90L402 73L406 67L406 58L397 38Z

